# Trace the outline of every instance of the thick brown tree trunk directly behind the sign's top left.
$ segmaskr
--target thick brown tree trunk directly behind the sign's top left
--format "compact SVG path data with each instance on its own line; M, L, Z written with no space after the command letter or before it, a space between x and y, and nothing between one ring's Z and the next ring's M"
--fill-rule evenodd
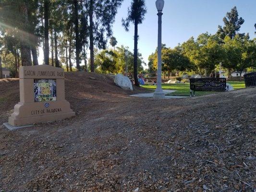
M27 31L28 28L28 11L27 11L27 2L24 1L20 7L21 15L24 17L24 29ZM29 36L28 33L23 33L21 36L22 46L21 46L21 62L23 66L31 66L31 50L29 47Z

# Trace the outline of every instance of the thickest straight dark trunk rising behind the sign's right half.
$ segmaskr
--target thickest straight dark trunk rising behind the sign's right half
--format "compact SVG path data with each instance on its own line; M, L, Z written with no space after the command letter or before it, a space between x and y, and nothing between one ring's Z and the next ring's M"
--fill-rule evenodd
M45 64L49 65L49 0L44 0L44 19L45 19L45 27L44 27L44 37L45 37L44 59L45 59Z

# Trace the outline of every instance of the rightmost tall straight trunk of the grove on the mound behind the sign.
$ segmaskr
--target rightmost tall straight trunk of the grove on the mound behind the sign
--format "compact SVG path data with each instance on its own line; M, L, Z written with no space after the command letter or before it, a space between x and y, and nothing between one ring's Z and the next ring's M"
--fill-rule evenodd
M90 26L89 26L89 36L90 36L90 62L91 62L91 72L94 72L93 0L90 0L89 17L90 17Z

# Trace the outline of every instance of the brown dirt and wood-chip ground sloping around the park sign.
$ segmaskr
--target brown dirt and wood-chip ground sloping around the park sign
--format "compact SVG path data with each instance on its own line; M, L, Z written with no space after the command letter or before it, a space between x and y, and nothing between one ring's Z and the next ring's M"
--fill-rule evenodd
M65 83L76 117L0 128L0 191L256 189L256 88L156 101L99 74L67 73ZM0 82L0 123L17 94L17 80Z

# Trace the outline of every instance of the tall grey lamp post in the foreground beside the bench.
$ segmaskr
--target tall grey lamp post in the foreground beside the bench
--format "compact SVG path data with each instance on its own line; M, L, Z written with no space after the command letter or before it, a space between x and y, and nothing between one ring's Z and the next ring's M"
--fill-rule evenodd
M158 9L158 76L154 98L164 99L165 95L162 89L162 11L164 8L164 0L157 0L156 6Z

